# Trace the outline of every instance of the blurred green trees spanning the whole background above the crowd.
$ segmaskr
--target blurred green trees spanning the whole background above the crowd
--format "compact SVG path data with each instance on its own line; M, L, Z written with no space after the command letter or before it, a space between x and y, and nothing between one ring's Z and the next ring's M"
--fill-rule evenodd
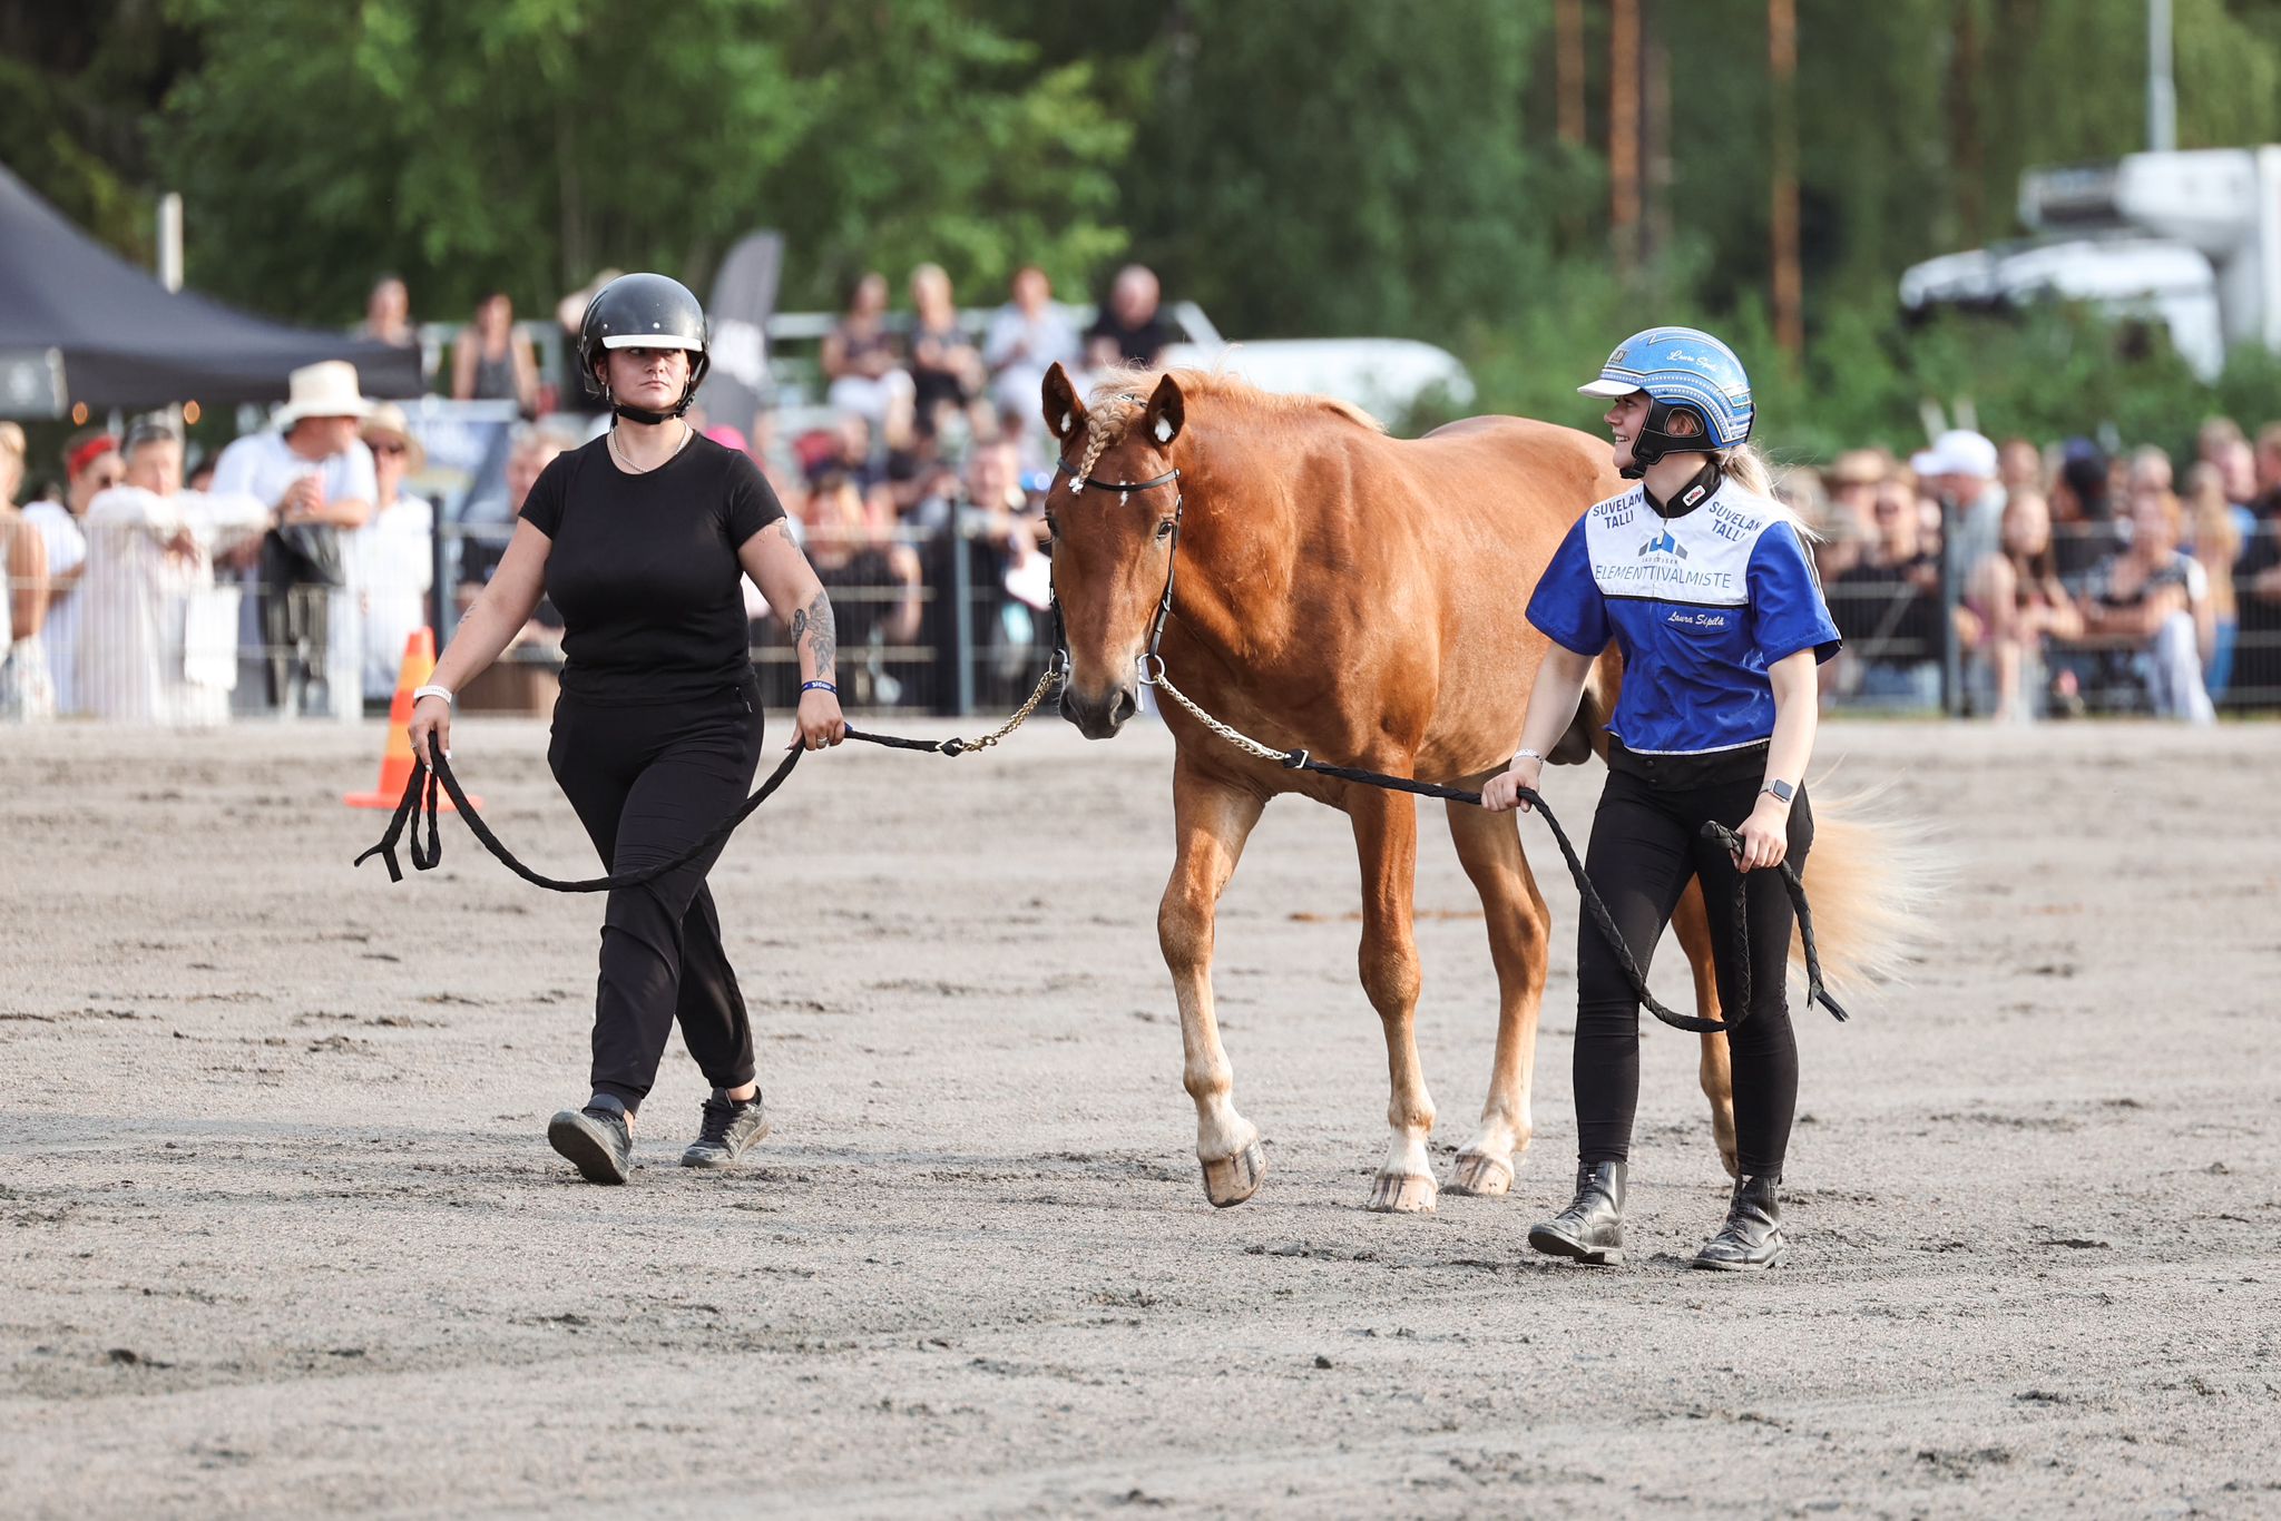
M78 0L0 9L0 162L128 258L187 203L189 283L347 324L381 271L420 317L527 315L604 267L698 287L787 235L785 306L942 262L1097 294L1125 258L1232 337L1410 335L1485 410L1590 424L1624 333L1699 322L1765 440L1996 433L2178 445L2281 415L2281 365L2213 388L2083 312L1905 324L1907 265L2016 235L2023 169L2144 144L2144 0ZM1613 57L1638 75L1617 80ZM1562 66L1567 64L1567 66ZM1578 75L1581 68L1581 75ZM2178 141L2281 141L2281 0L2176 0ZM1562 105L1567 100L1567 107ZM1804 344L1770 317L1777 103L1795 100ZM1581 116L1576 107L1581 105ZM1638 132L1617 214L1610 135Z

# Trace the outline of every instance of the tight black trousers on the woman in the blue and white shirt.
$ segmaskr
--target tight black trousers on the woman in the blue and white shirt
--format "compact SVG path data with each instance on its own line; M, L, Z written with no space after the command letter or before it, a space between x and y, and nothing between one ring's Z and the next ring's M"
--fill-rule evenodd
M1765 746L1718 757L1647 757L1622 746L1592 819L1585 873L1608 903L1624 944L1647 971L1688 878L1702 878L1724 1019L1740 1017L1736 987L1734 857L1702 837L1706 819L1743 828L1765 780ZM1804 871L1813 807L1791 805L1791 864ZM1727 1035L1734 1058L1736 1161L1745 1174L1781 1174L1797 1113L1797 1038L1791 1031L1791 898L1779 871L1745 876L1750 1017ZM1640 1108L1640 1001L1590 917L1576 930L1576 1156L1626 1161Z

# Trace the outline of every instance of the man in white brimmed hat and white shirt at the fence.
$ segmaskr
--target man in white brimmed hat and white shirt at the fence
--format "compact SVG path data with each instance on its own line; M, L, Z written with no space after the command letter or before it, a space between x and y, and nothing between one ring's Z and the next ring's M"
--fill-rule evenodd
M240 438L214 465L217 495L244 493L271 511L258 572L258 639L278 709L308 707L315 682L333 716L363 711L342 534L365 527L379 497L372 449L358 438L370 413L356 365L303 365L292 372L276 429Z

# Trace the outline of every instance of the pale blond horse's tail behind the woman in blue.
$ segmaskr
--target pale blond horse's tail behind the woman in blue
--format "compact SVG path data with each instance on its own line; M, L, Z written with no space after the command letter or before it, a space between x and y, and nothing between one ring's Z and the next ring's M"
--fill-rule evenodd
M1905 981L1932 940L1941 860L1925 830L1884 789L1813 794L1813 848L1800 880L1813 910L1823 971L1838 987ZM1791 962L1804 944L1791 940Z

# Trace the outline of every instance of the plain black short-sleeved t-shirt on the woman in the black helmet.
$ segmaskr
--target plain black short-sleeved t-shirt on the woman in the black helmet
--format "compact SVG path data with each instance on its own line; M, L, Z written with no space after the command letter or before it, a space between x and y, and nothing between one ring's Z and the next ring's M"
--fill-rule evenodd
M760 467L709 438L648 474L620 470L607 436L559 454L522 518L554 540L563 691L680 702L744 682L753 652L737 550L782 515Z

